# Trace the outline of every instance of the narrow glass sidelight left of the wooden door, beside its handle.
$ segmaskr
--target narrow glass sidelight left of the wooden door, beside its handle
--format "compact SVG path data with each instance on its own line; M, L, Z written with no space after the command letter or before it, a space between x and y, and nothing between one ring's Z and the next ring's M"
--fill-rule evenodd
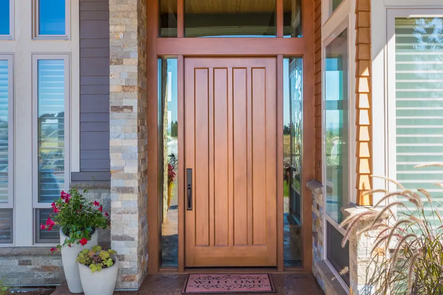
M177 60L159 60L159 107L162 115L162 267L178 265L178 77Z

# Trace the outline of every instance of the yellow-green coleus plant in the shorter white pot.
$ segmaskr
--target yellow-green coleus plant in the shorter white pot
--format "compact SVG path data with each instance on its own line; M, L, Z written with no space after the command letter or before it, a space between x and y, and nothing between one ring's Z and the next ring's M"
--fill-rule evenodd
M80 251L75 262L88 266L91 272L94 273L114 265L115 261L110 257L111 254L117 254L117 252L112 249L102 250L100 246L93 246L91 249Z

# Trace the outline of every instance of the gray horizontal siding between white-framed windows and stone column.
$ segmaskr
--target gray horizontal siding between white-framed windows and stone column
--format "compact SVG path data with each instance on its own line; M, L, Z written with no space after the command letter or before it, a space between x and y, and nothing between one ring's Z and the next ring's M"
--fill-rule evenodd
M109 180L109 0L80 1L80 172Z

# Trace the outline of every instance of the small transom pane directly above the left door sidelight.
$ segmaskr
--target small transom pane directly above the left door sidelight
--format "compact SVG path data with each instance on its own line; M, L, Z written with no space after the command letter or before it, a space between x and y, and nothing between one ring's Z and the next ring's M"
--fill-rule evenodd
M159 0L159 36L177 37L177 0Z

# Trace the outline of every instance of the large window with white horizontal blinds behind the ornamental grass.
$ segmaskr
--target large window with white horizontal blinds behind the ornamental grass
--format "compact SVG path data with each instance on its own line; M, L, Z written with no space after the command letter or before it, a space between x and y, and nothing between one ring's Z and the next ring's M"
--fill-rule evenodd
M443 168L413 168L443 163L442 18L395 19L395 85L397 180L443 203Z

